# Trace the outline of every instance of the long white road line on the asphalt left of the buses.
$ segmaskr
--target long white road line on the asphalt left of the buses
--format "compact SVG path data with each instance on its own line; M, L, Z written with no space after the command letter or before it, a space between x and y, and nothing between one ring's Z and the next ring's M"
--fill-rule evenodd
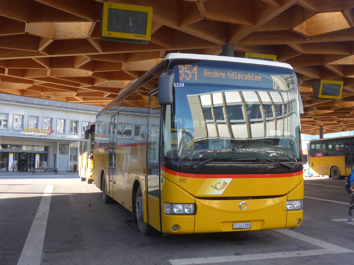
M39 265L41 261L53 185L48 185L34 217L17 265Z

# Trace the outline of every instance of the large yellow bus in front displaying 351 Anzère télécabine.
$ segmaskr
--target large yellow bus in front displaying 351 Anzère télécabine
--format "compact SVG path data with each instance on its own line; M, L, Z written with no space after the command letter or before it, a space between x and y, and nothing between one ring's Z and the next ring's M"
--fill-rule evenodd
M299 226L299 102L289 64L170 53L97 114L94 182L144 235Z

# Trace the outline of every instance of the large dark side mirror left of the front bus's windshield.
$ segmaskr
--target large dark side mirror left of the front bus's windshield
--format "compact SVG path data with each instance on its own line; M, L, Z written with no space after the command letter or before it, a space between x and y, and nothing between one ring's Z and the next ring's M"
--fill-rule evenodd
M172 88L175 73L172 70L163 70L159 77L159 104L172 104Z

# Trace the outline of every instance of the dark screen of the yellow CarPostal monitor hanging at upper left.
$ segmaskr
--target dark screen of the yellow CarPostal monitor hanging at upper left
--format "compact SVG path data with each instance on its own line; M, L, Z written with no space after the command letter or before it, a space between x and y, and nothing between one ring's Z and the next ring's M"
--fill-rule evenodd
M146 35L148 13L108 8L107 31Z

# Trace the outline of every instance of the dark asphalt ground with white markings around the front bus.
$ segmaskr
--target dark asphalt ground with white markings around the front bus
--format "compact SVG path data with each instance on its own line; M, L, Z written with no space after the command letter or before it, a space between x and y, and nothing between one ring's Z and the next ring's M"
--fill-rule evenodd
M346 181L304 182L295 229L143 236L78 173L0 172L0 264L353 264Z

